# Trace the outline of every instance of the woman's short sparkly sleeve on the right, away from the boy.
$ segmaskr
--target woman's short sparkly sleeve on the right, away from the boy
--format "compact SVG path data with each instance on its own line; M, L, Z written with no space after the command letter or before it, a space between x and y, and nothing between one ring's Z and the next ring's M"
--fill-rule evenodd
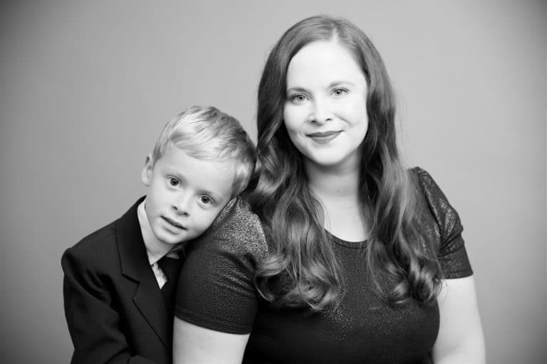
M457 211L427 171L418 167L413 171L417 174L429 213L436 224L431 235L437 240L437 257L444 278L454 279L472 275L473 270L462 237L464 228Z

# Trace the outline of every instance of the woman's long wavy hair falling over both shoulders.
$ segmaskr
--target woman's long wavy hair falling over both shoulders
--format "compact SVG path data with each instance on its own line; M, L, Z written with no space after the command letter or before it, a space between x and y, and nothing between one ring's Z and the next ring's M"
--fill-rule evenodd
M415 298L433 304L442 272L417 234L417 193L412 173L400 161L395 135L395 97L373 43L343 18L313 16L283 34L264 66L258 95L259 177L249 195L271 237L271 254L255 277L264 299L278 306L337 306L344 293L333 242L323 226L323 208L308 188L299 151L283 123L286 74L293 56L314 41L337 41L353 55L368 82L368 132L360 162L360 202L370 223L365 247L369 277L390 304ZM394 288L383 292L378 273Z

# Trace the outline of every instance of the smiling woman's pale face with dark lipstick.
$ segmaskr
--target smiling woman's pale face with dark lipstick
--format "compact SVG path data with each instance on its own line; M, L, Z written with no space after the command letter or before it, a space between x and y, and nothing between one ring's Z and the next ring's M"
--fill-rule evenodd
M288 64L283 119L306 166L357 168L367 134L367 80L336 41L304 46Z

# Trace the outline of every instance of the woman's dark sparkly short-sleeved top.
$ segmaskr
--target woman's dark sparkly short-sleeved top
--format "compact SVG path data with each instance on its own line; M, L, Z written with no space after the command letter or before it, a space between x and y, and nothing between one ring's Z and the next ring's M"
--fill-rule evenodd
M446 278L472 274L456 211L429 174L413 170L423 198L421 237L439 257ZM417 301L391 308L367 277L366 242L331 236L346 292L338 309L274 309L253 285L256 266L268 254L260 222L241 200L224 223L195 242L179 281L175 314L228 333L249 333L244 363L430 363L437 338L437 305ZM384 291L394 282L378 277Z

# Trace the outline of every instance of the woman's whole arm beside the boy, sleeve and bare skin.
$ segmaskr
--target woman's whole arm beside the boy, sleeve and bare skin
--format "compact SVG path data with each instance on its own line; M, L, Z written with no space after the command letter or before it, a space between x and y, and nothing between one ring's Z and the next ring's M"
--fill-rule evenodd
M256 267L268 253L260 220L242 200L192 242L175 304L174 363L241 363L259 309ZM221 213L221 214L223 214Z

